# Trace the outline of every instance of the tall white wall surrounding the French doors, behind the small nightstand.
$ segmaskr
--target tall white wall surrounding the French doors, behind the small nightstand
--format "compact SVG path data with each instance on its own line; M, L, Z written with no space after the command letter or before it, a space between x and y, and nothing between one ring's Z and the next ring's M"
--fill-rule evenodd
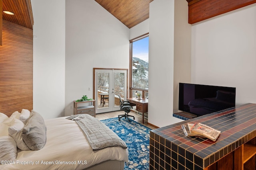
M74 100L93 98L93 68L129 68L129 36L94 0L66 0L65 115L73 114Z

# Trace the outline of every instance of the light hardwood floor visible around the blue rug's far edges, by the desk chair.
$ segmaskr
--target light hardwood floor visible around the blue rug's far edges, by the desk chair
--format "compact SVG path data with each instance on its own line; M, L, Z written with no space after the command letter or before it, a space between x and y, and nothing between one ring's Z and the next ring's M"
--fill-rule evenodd
M118 119L118 115L122 115L122 114L124 114L124 111L112 111L112 112L108 112L108 113L98 113L98 114L96 114L96 118L98 118L99 120L104 120L104 119L116 117L116 119ZM133 115L135 117L134 121L142 124L142 116L141 115L138 115L134 111L131 111L129 113L129 115ZM124 118L122 118L122 119L124 119ZM144 118L143 125L150 129L156 129L156 127L148 125L148 119L146 119L146 118Z

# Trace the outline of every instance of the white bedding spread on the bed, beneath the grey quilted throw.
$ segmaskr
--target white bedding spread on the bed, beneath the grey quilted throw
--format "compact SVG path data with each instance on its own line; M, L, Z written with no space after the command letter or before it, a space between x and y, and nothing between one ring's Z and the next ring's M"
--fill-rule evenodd
M80 170L106 160L128 162L128 149L109 147L92 151L76 122L65 118L45 120L45 146L40 150L18 151L16 161L10 162L14 164L0 165L0 169Z

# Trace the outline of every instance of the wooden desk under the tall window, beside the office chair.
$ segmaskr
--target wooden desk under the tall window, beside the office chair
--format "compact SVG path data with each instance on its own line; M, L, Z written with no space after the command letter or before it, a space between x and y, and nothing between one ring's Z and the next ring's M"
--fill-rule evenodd
M136 99L136 98L127 98L127 101L136 106L136 110L142 113L142 123L144 124L144 113L148 112L148 99Z

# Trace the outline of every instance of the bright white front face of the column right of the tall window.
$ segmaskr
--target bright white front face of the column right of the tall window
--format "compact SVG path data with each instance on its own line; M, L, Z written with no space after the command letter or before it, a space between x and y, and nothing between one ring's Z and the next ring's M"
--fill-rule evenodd
M158 127L180 121L173 113L174 0L150 3L148 122Z

